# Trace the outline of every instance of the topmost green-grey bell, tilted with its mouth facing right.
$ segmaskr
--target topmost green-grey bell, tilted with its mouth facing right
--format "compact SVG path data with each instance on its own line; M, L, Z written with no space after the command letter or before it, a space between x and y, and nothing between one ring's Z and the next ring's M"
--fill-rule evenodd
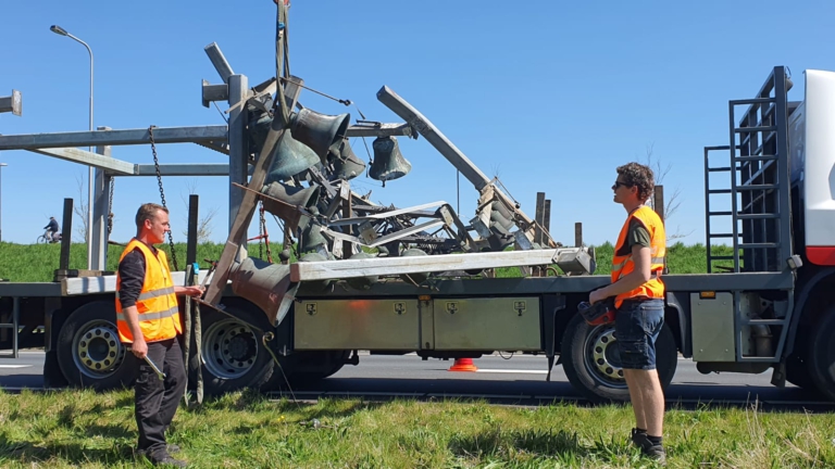
M332 149L339 151L350 122L351 115L348 113L332 116L306 107L292 114L290 130L296 140L310 147L319 155L322 164L327 164L327 152Z

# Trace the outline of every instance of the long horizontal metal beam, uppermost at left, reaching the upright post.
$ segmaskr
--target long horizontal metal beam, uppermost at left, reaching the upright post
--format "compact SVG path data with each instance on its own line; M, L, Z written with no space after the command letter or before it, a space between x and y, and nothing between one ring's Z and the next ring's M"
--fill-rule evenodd
M153 129L157 143L225 142L225 125L196 127L158 127ZM0 136L0 150L37 150L63 147L130 145L150 143L147 128L125 130L92 130L58 134L21 134Z

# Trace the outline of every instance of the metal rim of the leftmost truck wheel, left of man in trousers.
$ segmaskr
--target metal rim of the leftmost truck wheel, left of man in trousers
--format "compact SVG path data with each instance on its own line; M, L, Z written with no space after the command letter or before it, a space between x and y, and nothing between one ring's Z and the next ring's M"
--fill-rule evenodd
M85 324L73 337L73 359L82 375L103 379L113 375L125 359L116 327L97 319Z

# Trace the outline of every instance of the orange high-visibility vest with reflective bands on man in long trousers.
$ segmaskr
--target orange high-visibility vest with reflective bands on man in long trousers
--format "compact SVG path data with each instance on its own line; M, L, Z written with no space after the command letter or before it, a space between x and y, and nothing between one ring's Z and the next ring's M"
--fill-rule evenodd
M146 342L159 342L177 337L183 332L179 322L179 306L177 295L174 294L174 283L171 280L169 258L165 252L157 250L154 255L150 248L134 238L122 252L119 258L123 258L135 249L145 256L145 280L142 290L136 301L136 309L139 313L139 327ZM122 279L116 275L116 327L119 339L125 343L134 342L134 334L125 320L122 303L119 300L119 291L122 288Z

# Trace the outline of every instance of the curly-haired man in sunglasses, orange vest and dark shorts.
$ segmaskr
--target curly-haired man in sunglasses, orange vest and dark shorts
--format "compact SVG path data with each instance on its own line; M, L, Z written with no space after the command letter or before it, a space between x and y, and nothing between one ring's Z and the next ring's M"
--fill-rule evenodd
M614 246L612 283L593 291L589 303L614 297L614 331L637 423L632 441L663 461L664 393L656 370L656 340L664 325L666 233L658 214L645 205L656 187L653 178L652 169L638 163L618 168L614 202L628 216Z

